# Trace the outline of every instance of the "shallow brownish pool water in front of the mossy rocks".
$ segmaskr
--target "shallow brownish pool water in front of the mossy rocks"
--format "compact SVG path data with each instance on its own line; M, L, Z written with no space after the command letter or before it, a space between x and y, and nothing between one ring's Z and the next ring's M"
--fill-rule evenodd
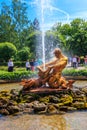
M0 130L87 130L87 112L2 117Z

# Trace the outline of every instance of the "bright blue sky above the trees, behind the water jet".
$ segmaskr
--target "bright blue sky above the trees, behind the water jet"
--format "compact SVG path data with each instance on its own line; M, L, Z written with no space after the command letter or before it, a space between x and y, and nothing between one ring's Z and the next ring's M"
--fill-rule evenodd
M0 0L10 4L11 0ZM87 0L21 0L28 5L28 17L37 17L44 28L57 22L67 23L75 18L87 20Z

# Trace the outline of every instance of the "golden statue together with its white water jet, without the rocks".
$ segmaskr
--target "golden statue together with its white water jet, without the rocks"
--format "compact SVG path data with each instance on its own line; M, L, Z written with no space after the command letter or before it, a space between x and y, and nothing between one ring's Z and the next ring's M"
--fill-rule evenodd
M51 61L51 63L45 63L45 31L47 30L46 28L46 19L45 19L45 11L49 10L51 11L57 11L61 12L66 16L66 19L68 21L69 15L64 12L63 10L60 10L58 8L55 8L50 5L49 0L41 0L41 1L36 1L40 2L40 9L41 9L41 31L42 31L42 59L43 59L43 65L37 67L38 68L38 78L37 79L24 79L22 80L21 84L23 85L23 91L30 91L32 88L41 88L44 86L44 88L61 88L61 89L66 89L70 88L72 86L72 83L74 81L69 81L67 82L64 77L62 77L62 70L66 67L67 65L67 57L65 57L61 50L55 49L55 61ZM49 17L49 15L48 15ZM51 28L54 24L51 23Z

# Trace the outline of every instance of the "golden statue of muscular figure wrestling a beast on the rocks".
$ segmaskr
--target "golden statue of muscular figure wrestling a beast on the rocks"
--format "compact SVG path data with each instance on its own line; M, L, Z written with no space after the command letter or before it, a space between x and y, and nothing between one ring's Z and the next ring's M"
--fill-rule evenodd
M44 65L38 66L38 76L37 79L23 80L22 85L24 90L31 88L37 88L45 86L48 84L50 88L59 88L66 89L72 87L73 81L67 82L64 77L62 77L62 71L67 65L68 58L63 55L59 48L54 50L55 58L46 63L44 70Z

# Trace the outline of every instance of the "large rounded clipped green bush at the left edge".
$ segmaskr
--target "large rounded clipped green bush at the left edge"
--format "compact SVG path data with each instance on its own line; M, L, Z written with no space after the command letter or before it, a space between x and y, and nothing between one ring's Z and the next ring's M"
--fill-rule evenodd
M9 42L0 43L0 60L8 61L9 58L14 57L17 53L16 47Z

